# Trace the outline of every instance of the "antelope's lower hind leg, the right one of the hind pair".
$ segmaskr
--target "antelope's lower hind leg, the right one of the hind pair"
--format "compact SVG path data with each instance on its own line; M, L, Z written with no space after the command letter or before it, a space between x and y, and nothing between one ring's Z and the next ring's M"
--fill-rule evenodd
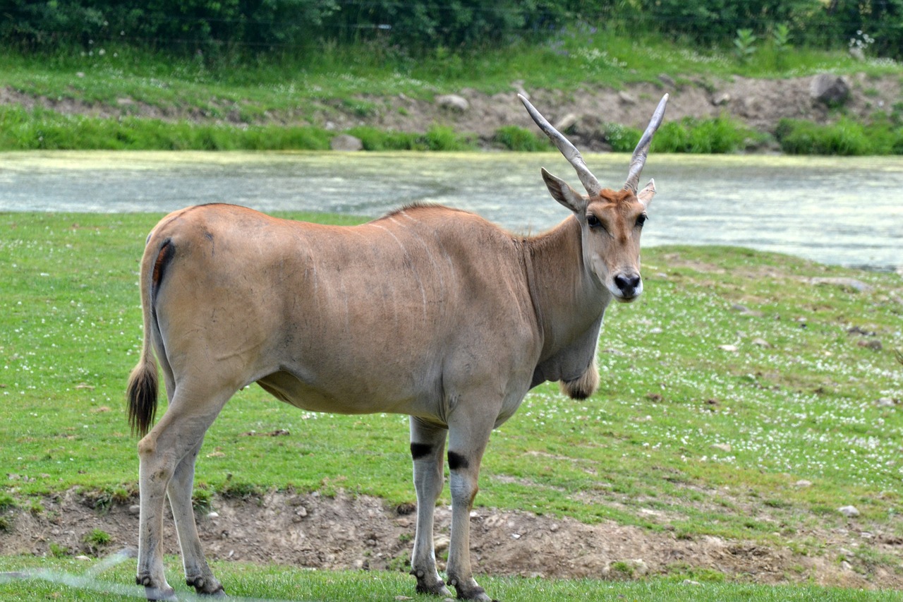
M201 443L203 440L201 440ZM185 568L185 582L195 588L199 594L223 596L222 585L213 577L204 551L200 547L198 527L194 522L194 507L191 493L194 489L194 463L200 453L200 445L191 450L188 456L175 468L166 492L172 506L172 518L179 534L179 547L182 549L182 566Z

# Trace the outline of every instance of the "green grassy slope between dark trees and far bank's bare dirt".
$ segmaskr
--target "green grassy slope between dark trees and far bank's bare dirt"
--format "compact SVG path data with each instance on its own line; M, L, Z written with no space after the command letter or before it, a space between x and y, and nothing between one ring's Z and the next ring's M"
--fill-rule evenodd
M526 89L559 89L566 81L576 90L578 84L619 88L629 82L656 82L663 72L678 78L678 83L695 76L781 78L827 70L900 73L895 63L859 62L846 52L795 48L777 61L763 48L740 62L726 49L582 28L563 31L546 42L514 42L498 50L452 55L438 49L409 56L378 42L324 44L306 56L255 60L228 55L198 61L129 47L104 50L102 55L74 50L38 56L7 51L0 77L13 89L48 99L116 106L127 98L161 109L191 107L211 118L253 122L266 110L305 116L306 101L314 99L345 104L366 115L383 110L373 100L378 97L405 94L433 99L461 87L494 94L510 91L515 80L523 81Z

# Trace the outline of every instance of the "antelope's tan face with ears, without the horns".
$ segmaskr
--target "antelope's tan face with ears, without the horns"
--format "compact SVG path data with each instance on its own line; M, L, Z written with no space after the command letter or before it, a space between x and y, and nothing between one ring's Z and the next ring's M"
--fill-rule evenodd
M554 199L570 209L581 226L583 263L601 287L629 303L643 293L639 274L639 239L647 208L656 193L650 182L640 193L602 189L588 195L543 170Z

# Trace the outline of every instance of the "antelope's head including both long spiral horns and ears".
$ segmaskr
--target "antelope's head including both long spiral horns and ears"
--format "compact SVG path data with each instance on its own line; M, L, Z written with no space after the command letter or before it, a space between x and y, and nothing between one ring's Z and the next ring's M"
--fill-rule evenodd
M591 174L580 151L552 127L530 101L518 94L530 117L551 138L562 155L577 171L586 194L575 191L561 178L542 168L543 180L555 201L570 209L580 222L582 231L583 264L602 287L619 301L629 303L643 292L639 276L639 235L647 219L647 207L656 194L655 181L638 191L639 174L646 163L652 136L665 115L668 95L662 97L656 112L630 159L627 182L619 191L602 188Z

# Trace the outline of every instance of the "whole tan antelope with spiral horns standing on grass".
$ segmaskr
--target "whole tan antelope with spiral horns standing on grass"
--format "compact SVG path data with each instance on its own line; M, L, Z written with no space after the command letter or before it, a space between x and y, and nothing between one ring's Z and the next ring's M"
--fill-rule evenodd
M561 381L575 399L596 389L605 308L643 291L639 238L656 189L650 181L638 191L638 182L667 95L619 191L602 188L577 149L520 99L586 189L542 170L549 193L573 212L544 234L518 236L430 205L337 227L210 204L154 227L141 262L144 346L128 383L129 421L143 437L136 580L147 597L173 596L161 547L167 495L188 584L223 593L194 522L194 464L219 411L256 382L298 408L409 415L417 591L449 596L447 584L458 597L490 599L470 568L469 524L489 433L541 382ZM154 355L169 407L151 428ZM443 581L433 509L446 440L452 533Z

